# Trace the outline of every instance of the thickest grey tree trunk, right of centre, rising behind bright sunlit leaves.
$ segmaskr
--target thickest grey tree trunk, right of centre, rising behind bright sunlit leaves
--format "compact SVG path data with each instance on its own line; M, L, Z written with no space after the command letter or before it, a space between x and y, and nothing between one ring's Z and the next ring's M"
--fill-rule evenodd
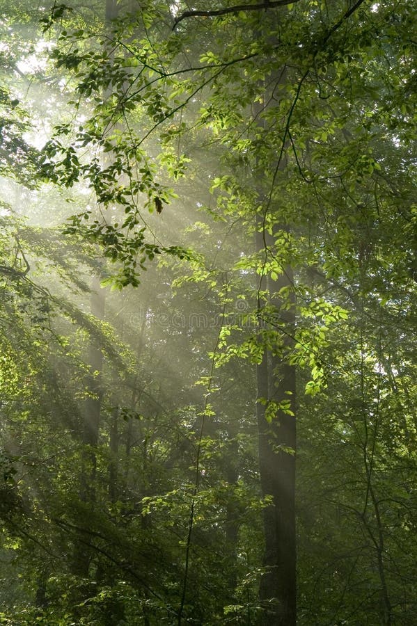
M276 19L279 19L279 11ZM278 22L277 22L278 24ZM261 37L262 27L255 33L255 39ZM274 97L279 99L280 91L285 86L287 72L280 68L276 72ZM272 77L270 77L272 79ZM267 97L267 81L263 102ZM254 118L257 125L265 130L262 113L263 102L256 102ZM281 153L276 165L276 172L285 168L285 154ZM260 198L266 201L265 211L272 210L271 198L267 200L263 191L264 172L257 162L255 179L258 181ZM257 218L256 249L269 260L274 255L275 239L265 230L261 216ZM276 232L288 230L285 224L276 225ZM278 257L279 257L279 253ZM265 555L264 568L260 579L259 596L264 609L260 623L265 626L295 626L296 611L296 536L295 536L295 368L288 364L288 351L292 346L295 328L295 298L292 268L283 261L281 275L276 279L263 276L260 292L265 290L264 304L268 312L262 319L262 303L258 303L262 324L270 330L276 330L276 349L266 349L262 362L257 368L258 403L258 451L260 485L263 497L270 498L270 504L263 511ZM280 290L285 295L280 296ZM273 319L272 319L273 318ZM262 328L260 328L260 331ZM260 402L260 399L262 402ZM266 408L270 402L289 401L288 410L274 412L271 418ZM268 416L268 419L267 419Z

